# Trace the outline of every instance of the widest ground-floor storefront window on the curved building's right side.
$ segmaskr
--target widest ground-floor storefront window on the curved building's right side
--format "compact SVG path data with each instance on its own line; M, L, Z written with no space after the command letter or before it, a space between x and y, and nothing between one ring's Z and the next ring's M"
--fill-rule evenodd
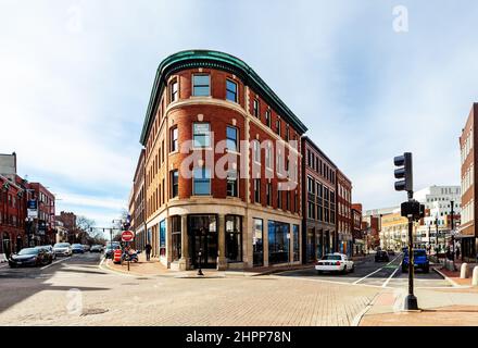
M268 222L268 253L271 264L289 262L289 224L282 222Z

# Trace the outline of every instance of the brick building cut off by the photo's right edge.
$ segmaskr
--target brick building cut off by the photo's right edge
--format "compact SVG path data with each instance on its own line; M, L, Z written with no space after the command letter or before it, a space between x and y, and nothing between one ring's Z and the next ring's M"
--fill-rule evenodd
M461 226L456 239L462 247L462 257L465 261L475 261L478 252L477 231L477 135L478 135L478 103L474 103L460 137L461 151L461 182L462 182L462 207Z

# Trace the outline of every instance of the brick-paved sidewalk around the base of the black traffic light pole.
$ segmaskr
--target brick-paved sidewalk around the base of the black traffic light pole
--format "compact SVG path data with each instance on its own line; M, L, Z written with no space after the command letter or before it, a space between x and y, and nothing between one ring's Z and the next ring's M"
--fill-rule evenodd
M406 289L374 299L360 326L478 326L478 289L417 289L419 311L402 311Z

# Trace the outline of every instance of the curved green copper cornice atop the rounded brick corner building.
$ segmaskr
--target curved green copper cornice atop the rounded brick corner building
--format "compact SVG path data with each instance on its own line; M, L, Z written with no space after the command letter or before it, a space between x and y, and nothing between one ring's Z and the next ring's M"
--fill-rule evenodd
M153 89L151 91L148 111L142 126L140 142L146 145L147 134L149 133L158 100L166 87L167 77L178 71L209 67L223 70L239 76L242 82L252 87L282 119L286 119L302 135L307 128L297 117L293 112L280 100L279 97L271 89L269 86L240 59L218 51L211 50L188 50L174 53L164 59L158 67L156 77L154 78Z

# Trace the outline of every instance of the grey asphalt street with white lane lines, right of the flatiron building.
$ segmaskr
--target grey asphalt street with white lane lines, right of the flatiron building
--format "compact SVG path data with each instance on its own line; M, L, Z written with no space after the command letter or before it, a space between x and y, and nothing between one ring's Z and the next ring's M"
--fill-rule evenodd
M348 274L324 273L318 275L314 269L284 272L279 275L291 277L307 277L311 279L353 285L368 285L377 287L402 288L408 286L408 273L402 273L400 253L390 257L390 262L375 262L374 256L355 263L355 272ZM417 288L451 287L438 273L430 270L424 273L415 271L415 286Z

